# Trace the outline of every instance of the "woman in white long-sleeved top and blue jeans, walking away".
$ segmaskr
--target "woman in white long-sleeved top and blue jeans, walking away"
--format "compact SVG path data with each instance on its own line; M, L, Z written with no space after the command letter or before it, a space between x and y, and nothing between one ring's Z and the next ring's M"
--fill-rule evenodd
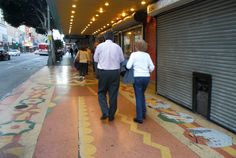
M131 53L126 68L134 69L134 92L136 97L136 117L134 122L143 123L146 118L145 90L150 81L150 72L155 68L147 51L147 43L144 40L135 42L135 51Z

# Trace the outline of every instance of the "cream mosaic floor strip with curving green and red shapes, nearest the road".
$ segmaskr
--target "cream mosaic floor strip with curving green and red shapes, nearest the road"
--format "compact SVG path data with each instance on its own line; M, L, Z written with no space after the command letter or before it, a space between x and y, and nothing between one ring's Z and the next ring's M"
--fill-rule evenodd
M32 84L15 103L0 106L0 157L32 157L53 91Z

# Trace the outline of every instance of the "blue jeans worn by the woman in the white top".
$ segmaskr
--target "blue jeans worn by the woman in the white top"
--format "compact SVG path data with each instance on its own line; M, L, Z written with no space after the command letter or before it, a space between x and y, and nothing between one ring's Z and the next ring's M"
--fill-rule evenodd
M150 77L134 77L134 92L136 97L136 119L142 121L146 116L145 91Z

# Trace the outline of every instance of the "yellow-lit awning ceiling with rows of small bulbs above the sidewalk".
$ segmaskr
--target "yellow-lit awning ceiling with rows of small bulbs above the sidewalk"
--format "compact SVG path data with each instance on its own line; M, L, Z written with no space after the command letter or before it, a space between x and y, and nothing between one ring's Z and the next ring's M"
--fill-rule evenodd
M124 18L122 13L125 13L125 16L127 16L137 10L146 10L147 5L153 2L153 0L146 0L146 5L142 5L141 1L54 0L53 3L51 3L52 1L49 1L49 3L51 3L50 8L54 12L54 19L57 20L65 35L92 35L111 28L112 24L118 21L118 18ZM106 2L109 3L108 6L105 5ZM74 8L73 5L76 5L76 7ZM103 9L103 13L99 12L100 8ZM134 11L131 11L131 8ZM72 11L75 11L75 13L72 13ZM73 19L72 22L71 19Z

